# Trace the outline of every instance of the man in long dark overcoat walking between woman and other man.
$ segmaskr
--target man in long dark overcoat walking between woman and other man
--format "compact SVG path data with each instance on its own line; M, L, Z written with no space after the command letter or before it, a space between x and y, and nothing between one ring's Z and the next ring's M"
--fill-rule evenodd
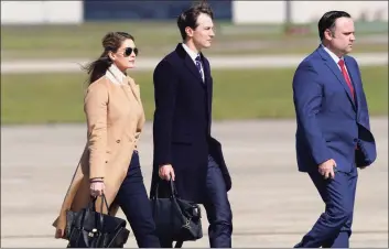
M180 197L204 204L209 221L209 246L230 248L233 213L227 192L231 178L220 143L210 136L213 78L201 52L215 35L213 11L199 3L177 19L183 39L153 75L155 112L154 159L150 196L169 193L172 176ZM165 181L160 181L160 178ZM162 247L172 241L160 238Z

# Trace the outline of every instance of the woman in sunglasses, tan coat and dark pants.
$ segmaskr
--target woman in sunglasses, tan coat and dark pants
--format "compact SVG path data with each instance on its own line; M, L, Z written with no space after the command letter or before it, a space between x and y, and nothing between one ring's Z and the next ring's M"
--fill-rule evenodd
M86 69L89 74L84 110L87 143L66 193L58 218L56 238L64 238L66 210L85 208L90 196L105 194L109 214L120 207L138 246L160 247L149 198L143 184L137 144L144 124L139 86L127 76L134 67L138 48L125 32L102 39L104 52ZM101 198L97 198L99 207ZM107 213L107 209L104 209Z

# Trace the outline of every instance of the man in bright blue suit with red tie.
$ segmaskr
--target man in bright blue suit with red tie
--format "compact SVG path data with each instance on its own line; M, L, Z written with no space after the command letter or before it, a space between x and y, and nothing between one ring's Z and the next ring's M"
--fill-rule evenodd
M293 77L299 171L307 172L325 212L295 247L348 248L357 167L376 160L376 144L357 62L352 17L329 11L318 21L322 44Z

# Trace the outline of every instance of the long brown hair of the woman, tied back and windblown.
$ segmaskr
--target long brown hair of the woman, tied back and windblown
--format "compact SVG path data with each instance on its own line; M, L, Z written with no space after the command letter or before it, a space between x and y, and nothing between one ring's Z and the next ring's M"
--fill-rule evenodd
M101 55L94 62L89 63L86 66L83 66L83 69L87 72L89 78L87 80L88 85L94 83L95 80L102 77L108 67L112 65L112 61L108 56L108 53L111 51L116 53L118 48L121 46L122 42L127 39L131 39L134 41L133 36L126 32L109 32L102 37L102 47L104 51Z

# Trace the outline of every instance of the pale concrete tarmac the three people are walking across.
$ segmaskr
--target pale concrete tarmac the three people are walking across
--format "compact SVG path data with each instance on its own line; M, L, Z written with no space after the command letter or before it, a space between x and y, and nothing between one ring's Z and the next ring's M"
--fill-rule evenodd
M388 247L388 118L371 128L378 159L359 171L352 247ZM309 231L324 205L310 177L299 173L294 120L214 122L233 176L233 247L291 248ZM63 248L51 226L85 144L85 124L1 127L1 246ZM151 124L140 140L149 190L152 162ZM119 214L121 217L123 215ZM204 238L184 247L207 248ZM136 248L131 232L127 248Z

